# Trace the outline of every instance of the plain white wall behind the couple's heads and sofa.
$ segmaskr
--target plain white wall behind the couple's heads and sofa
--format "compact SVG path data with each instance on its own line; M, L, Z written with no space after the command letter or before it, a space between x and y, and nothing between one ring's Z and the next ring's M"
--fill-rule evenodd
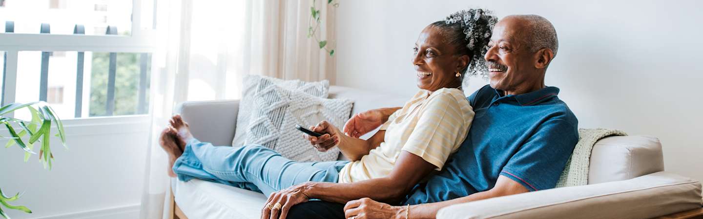
M666 171L703 181L703 1L342 1L337 84L410 98L418 34L469 6L549 19L560 47L546 84L579 126L657 136ZM470 82L468 93L487 84Z

